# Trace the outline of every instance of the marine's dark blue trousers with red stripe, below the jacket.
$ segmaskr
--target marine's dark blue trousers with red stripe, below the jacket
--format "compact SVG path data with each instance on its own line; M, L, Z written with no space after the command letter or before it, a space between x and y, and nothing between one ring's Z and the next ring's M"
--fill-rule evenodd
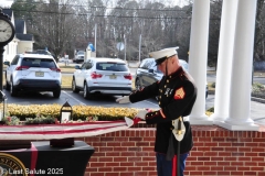
M186 160L189 156L189 153L180 155L180 175L183 176L184 168L186 168ZM177 168L177 162L167 161L166 154L157 153L157 173L158 176L172 176L172 170ZM177 176L177 175L176 175Z

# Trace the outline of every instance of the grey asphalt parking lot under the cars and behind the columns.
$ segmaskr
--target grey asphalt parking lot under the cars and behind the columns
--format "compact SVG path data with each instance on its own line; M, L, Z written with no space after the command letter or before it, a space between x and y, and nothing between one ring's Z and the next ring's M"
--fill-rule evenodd
M126 108L151 108L159 109L156 99L148 99L145 101L129 103L129 105L118 105L115 100L118 98L116 96L95 96L91 100L83 98L82 91L80 94L74 94L71 90L62 90L61 97L54 99L51 92L21 92L19 97L11 97L10 92L3 90L7 95L8 103L15 105L63 105L68 101L71 106L83 105L83 106L100 106L100 107L126 107ZM214 107L214 95L209 95L206 98L205 110ZM265 125L265 105L251 101L251 118L259 124Z

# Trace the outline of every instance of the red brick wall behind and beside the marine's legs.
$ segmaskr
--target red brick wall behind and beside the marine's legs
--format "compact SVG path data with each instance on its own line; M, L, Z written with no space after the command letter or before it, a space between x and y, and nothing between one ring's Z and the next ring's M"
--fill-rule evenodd
M192 125L194 147L186 176L265 176L265 130L227 131L215 125ZM126 131L82 139L95 148L85 176L157 176L156 130Z

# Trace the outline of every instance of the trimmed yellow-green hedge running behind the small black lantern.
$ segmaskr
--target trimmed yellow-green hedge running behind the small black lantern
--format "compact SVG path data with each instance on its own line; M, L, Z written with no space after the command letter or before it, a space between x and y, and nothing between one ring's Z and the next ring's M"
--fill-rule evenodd
M36 117L60 118L61 105L8 105L9 114L18 117L21 121L33 121ZM86 120L97 118L98 121L121 120L125 117L134 118L137 113L136 108L103 108L92 106L73 106L73 120ZM32 122L33 123L33 122ZM38 122L36 122L38 123Z

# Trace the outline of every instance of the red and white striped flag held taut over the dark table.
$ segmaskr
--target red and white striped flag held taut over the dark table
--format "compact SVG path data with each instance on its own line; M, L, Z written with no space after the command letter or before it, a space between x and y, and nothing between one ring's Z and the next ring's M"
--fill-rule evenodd
M138 123L125 118L118 121L97 121L61 124L2 125L0 140L52 140L65 138L85 138L126 130Z

